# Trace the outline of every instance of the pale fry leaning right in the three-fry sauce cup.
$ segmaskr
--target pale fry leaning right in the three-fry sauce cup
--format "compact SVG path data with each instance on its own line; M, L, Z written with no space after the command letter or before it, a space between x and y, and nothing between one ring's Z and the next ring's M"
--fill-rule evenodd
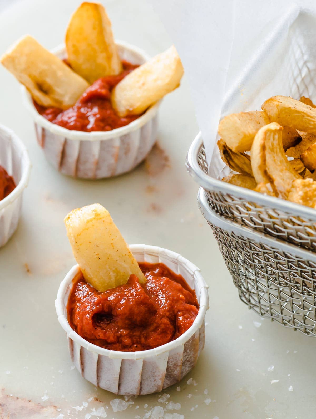
M139 115L180 85L183 66L172 45L133 70L112 91L112 106L120 116Z

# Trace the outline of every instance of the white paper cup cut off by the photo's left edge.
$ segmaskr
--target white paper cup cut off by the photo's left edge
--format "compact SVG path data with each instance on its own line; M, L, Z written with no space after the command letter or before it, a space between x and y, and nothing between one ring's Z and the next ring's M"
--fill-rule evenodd
M20 219L23 191L29 182L31 163L23 142L3 125L0 125L0 165L16 183L16 188L0 201L0 246L4 246Z

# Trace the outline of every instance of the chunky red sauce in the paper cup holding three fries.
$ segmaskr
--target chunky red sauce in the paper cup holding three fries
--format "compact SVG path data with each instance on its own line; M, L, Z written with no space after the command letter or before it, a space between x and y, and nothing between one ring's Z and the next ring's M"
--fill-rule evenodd
M139 115L121 118L112 108L110 97L112 89L138 65L122 61L123 71L118 75L106 76L96 80L78 101L63 111L59 108L45 108L34 102L39 114L53 124L76 131L110 131L124 127Z

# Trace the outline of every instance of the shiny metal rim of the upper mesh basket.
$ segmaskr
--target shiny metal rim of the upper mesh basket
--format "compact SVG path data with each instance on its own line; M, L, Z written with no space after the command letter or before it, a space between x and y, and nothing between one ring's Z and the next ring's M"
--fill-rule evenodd
M311 221L316 222L316 211L313 208L305 207L301 204L295 204L291 201L286 201L285 199L280 199L277 197L270 197L269 195L264 195L250 189L242 188L241 186L236 186L223 182L219 179L215 179L209 174L205 173L198 166L198 153L200 148L204 145L202 140L201 131L194 138L186 159L186 166L188 172L193 177L193 179L202 186L207 191L220 191L235 197L245 199L248 202L255 202L259 205L264 205L273 210L280 210L286 212L289 215L307 217Z

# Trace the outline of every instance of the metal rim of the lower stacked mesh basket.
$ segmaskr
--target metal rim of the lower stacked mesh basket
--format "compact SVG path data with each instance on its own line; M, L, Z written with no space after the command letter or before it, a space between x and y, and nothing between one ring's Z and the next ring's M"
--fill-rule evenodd
M292 256L297 256L304 260L316 263L316 254L313 251L300 248L298 246L295 246L295 244L290 244L285 241L281 241L265 233L253 230L250 227L240 225L237 222L228 220L227 218L218 215L209 207L207 203L206 191L202 187L200 187L200 189L198 190L197 200L198 207L200 208L203 217L206 219L206 221L210 222L215 227L235 233L244 238L255 241L256 243L262 243L266 246L270 246L271 248L290 253Z

